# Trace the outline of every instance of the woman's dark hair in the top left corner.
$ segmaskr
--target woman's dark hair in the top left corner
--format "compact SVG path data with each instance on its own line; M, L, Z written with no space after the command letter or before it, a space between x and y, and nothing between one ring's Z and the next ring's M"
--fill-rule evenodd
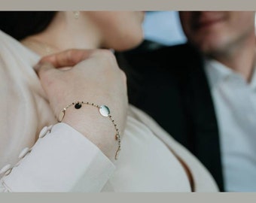
M42 32L56 11L1 11L0 29L17 40Z

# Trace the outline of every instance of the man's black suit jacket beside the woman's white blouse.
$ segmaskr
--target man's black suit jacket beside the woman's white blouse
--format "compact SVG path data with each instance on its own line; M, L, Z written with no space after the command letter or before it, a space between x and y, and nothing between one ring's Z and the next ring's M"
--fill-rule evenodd
M188 44L145 50L147 43L116 54L130 103L194 153L223 191L218 126L200 53Z

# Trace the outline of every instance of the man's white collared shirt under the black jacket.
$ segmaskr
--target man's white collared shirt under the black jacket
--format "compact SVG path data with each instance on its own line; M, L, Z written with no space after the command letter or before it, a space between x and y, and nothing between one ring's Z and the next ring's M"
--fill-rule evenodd
M206 62L221 142L227 191L256 191L256 71L250 83L211 60Z

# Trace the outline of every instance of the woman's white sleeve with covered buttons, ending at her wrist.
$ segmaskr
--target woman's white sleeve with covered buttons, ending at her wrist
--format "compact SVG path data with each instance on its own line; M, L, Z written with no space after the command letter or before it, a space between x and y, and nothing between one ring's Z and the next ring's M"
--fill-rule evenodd
M100 192L115 166L95 144L65 123L39 138L0 180L1 192Z

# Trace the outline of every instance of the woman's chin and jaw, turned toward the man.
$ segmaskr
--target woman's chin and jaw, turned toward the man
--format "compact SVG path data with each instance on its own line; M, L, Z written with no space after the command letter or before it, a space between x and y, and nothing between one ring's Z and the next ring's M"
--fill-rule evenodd
M99 28L102 35L101 47L128 50L138 45L143 39L141 25L144 12L94 11L84 12L84 15Z

